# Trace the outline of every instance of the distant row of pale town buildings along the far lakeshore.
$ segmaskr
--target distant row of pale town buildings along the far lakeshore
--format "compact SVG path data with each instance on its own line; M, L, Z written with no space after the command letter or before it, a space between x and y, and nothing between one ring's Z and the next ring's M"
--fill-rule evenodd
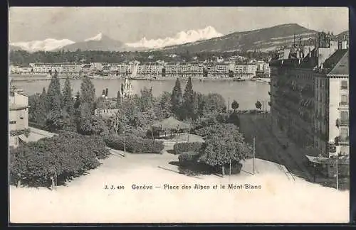
M150 58L150 57L149 57ZM152 57L151 57L152 58ZM102 63L92 62L80 65L78 63L30 63L28 66L10 65L12 75L70 75L71 77L108 76L108 77L239 77L251 79L253 77L269 77L268 63L261 60L248 60L246 57L222 57L216 61L204 62L129 62Z

